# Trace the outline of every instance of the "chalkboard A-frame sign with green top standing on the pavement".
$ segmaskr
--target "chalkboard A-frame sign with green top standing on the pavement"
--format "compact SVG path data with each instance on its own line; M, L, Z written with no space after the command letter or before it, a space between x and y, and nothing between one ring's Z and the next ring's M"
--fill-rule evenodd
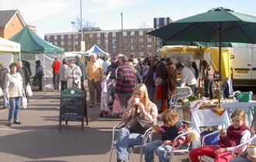
M61 121L81 121L81 131L84 130L85 91L78 88L68 88L61 92L59 130Z

